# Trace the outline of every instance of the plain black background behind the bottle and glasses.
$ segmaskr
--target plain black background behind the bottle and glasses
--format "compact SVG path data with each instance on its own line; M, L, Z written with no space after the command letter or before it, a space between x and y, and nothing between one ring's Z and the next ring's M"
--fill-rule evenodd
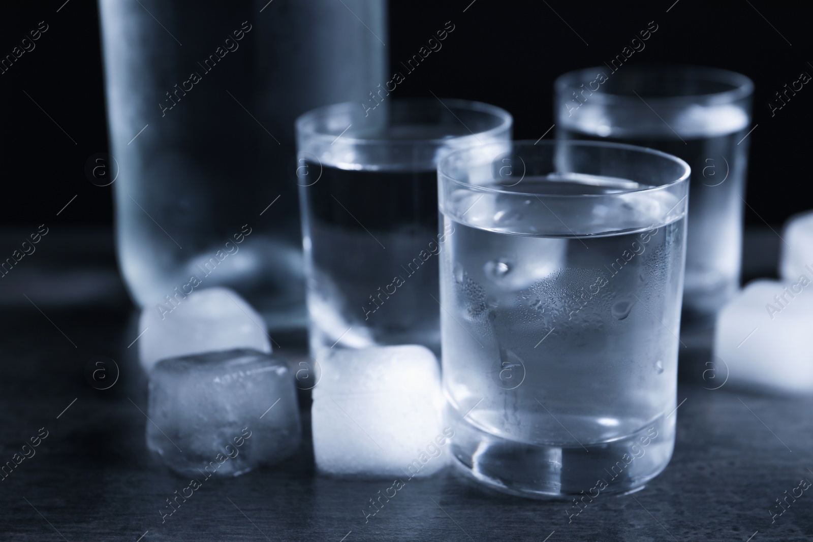
M0 224L51 220L75 194L59 222L112 220L111 187L94 186L85 176L88 158L107 151L98 10L89 0L63 2L0 7L0 56L41 20L49 25L36 49L0 75ZM813 89L806 85L773 116L767 105L801 72L813 74L806 2L470 2L391 2L386 50L393 68L446 21L455 25L442 49L394 96L435 93L493 103L514 115L516 138L535 140L553 124L554 78L609 61L654 21L658 32L628 63L724 67L754 80L753 124L759 126L750 134L746 223L776 227L813 206Z

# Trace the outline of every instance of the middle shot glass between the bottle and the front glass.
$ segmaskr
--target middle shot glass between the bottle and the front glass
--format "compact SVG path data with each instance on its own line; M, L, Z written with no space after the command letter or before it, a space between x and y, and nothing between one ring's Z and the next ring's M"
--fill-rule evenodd
M511 139L506 111L393 99L325 106L297 120L311 353L417 344L440 351L437 160Z

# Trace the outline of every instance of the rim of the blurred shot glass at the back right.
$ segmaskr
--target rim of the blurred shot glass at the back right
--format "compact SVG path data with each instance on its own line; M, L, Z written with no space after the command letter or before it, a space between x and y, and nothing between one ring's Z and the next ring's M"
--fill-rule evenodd
M596 74L602 72L604 67L585 67L571 72L566 72L554 80L554 93L563 95L564 91L573 89L580 89L580 84L591 80L593 75L585 79L585 74ZM616 70L617 71L617 70ZM731 85L731 89L723 90L720 92L711 93L693 93L693 94L675 94L672 96L646 96L637 97L634 95L611 93L611 92L598 92L592 91L590 99L602 103L640 103L642 98L646 98L647 102L656 102L659 104L670 103L675 106L692 105L698 102L704 103L732 103L737 102L742 98L747 98L754 94L754 81L750 77L745 76L739 72L733 72L720 67L707 67L707 66L693 66L691 64L641 64L628 68L629 72L684 72L689 73L687 80L706 80L715 83L723 83ZM612 72L615 73L615 72ZM607 76L610 79L612 76Z

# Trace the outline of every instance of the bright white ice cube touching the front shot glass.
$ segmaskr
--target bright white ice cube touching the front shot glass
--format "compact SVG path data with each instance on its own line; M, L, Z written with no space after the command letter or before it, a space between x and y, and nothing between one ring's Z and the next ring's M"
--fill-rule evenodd
M313 392L316 466L327 475L431 475L450 456L440 371L419 345L325 349ZM453 434L453 433L452 433Z

